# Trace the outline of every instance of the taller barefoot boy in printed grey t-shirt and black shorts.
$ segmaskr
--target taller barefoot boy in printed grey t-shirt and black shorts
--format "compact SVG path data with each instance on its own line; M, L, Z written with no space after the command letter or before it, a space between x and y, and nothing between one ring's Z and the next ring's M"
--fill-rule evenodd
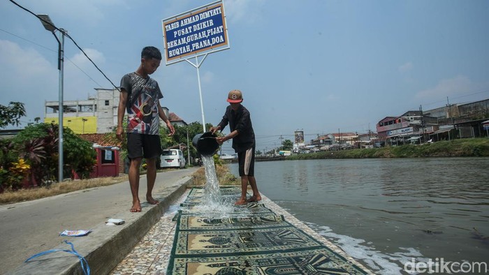
M159 104L163 98L158 82L149 77L156 71L161 63L161 52L156 47L145 47L141 52L141 64L136 72L128 73L122 77L119 107L117 109L116 135L122 140L124 128L122 121L124 114L128 114L127 124L127 151L131 165L129 167L129 184L133 195L131 212L140 212L139 200L139 168L143 157L147 163L147 193L146 200L156 205L158 200L152 196L154 181L156 180L156 158L161 154L159 138L159 119L165 121L170 135L175 128L166 117Z

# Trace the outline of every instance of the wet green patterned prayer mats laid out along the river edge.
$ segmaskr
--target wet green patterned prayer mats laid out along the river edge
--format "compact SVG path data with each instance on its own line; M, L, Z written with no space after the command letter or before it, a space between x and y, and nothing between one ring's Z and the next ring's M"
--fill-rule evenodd
M221 188L233 199L226 203L240 192ZM176 216L167 274L367 274L262 203L235 206L224 218L193 213L202 194L192 189Z

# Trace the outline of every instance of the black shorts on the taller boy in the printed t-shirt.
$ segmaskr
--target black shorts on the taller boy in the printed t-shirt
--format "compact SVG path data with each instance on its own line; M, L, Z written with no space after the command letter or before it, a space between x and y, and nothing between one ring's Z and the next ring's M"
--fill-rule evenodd
M159 158L161 156L159 135L127 133L127 153L129 159Z

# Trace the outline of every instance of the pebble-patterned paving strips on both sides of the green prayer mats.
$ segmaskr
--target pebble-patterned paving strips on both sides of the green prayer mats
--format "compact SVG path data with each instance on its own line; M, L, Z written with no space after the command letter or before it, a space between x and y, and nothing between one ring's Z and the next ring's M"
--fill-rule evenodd
M176 222L172 221L173 217L179 209L180 203L184 202L185 198L189 194L187 190L184 195L182 195L175 205L172 205L168 211L161 217L161 220L154 225L154 227L149 230L147 235L140 241L127 257L122 260L122 262L117 265L117 267L112 271L112 275L126 275L126 274L166 274L166 269L168 267L168 260L170 258L170 253L173 246L173 239L175 237L175 227ZM284 215L286 221L295 225L295 227L300 228L306 232L314 239L321 241L323 244L328 246L331 250L342 255L347 260L355 262L355 264L361 269L368 272L360 263L353 260L349 255L346 255L344 251L335 246L319 233L315 232L307 225L299 221L295 216L289 214L282 207L279 207L275 202L272 202L265 195L261 194L263 203L277 215Z

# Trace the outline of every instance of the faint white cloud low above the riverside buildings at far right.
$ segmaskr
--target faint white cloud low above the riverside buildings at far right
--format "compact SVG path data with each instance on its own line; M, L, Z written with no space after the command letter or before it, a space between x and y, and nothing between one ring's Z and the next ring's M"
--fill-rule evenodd
M418 100L439 101L448 97L460 97L474 93L481 88L480 84L472 82L465 75L457 75L453 78L440 80L435 87L419 91L416 94Z

